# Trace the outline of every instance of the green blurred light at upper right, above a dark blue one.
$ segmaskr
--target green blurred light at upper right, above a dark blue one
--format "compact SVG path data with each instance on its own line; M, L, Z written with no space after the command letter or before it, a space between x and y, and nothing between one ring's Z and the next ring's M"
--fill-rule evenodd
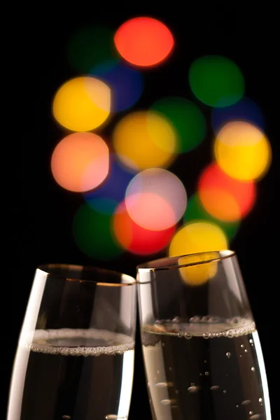
M239 67L220 55L196 59L190 66L189 83L197 99L209 106L230 106L244 95L244 78Z

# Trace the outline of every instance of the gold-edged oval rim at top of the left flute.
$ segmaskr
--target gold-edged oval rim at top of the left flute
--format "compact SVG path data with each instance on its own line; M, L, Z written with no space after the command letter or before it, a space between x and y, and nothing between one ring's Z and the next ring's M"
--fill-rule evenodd
M87 270L87 272L92 272L92 273L99 273L99 274L108 274L110 276L119 276L120 280L125 278L126 282L125 283L111 283L110 281L107 282L103 282L103 281L96 281L96 280L91 280L91 279L83 279L83 277L80 278L75 278L75 276L73 275L64 275L62 273L59 272L55 272L56 269L65 269L65 270L76 270L77 272L82 273L84 269ZM52 271L53 270L53 271ZM130 276L129 274L125 274L123 272L118 272L116 270L113 269L106 269L106 268L102 268L102 267L96 267L96 266L91 266L91 265L79 265L79 264L63 264L63 263L46 263L46 264L40 264L38 265L38 267L36 267L36 271L41 271L44 274L46 274L47 276L54 276L57 277L59 279L64 279L67 281L77 281L77 282L81 282L81 283L93 283L96 284L97 286L107 286L107 287L123 287L123 286L133 286L134 284L137 283L136 279L134 279L134 277ZM69 273L70 274L70 273Z

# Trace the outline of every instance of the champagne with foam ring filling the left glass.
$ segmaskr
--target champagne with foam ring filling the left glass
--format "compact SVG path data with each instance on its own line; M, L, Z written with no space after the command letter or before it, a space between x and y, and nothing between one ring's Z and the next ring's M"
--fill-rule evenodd
M20 341L8 420L125 419L134 369L131 337L106 330L36 330Z

